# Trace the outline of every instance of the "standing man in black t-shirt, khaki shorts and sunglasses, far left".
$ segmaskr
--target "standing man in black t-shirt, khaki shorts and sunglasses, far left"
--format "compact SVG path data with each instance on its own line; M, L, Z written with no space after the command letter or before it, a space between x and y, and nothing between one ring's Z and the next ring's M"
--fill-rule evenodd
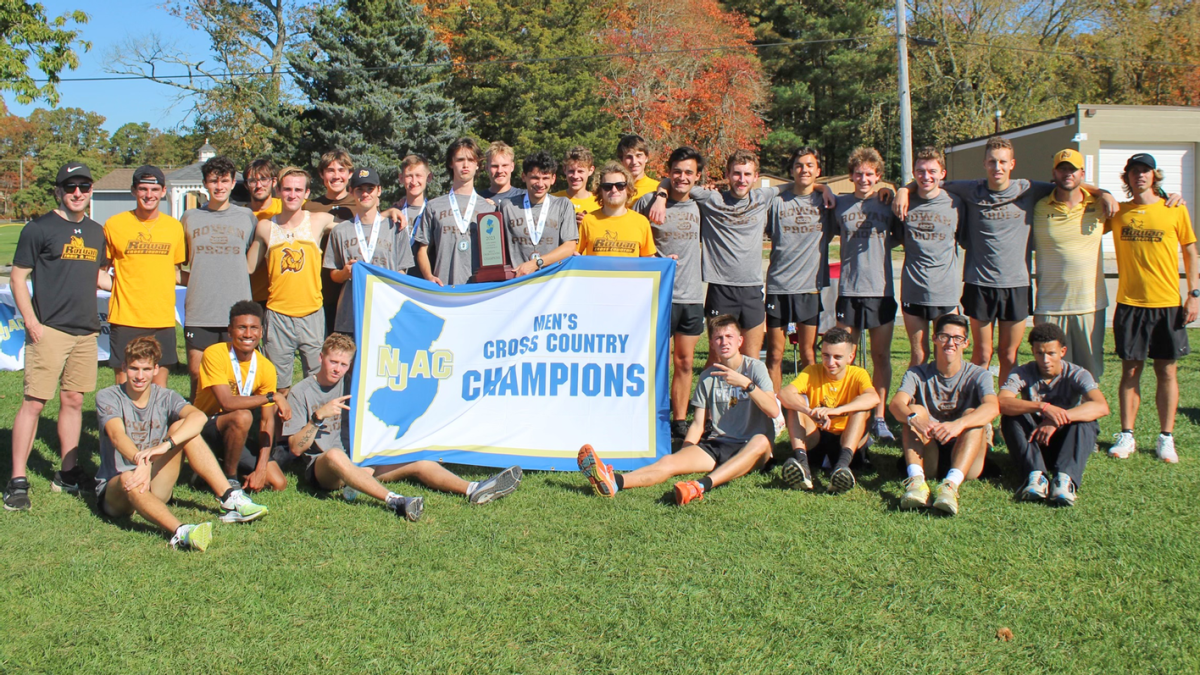
M12 295L25 322L25 398L12 423L12 478L4 492L7 510L29 509L25 464L34 449L37 419L59 390L61 471L50 489L78 492L92 479L77 466L83 395L96 389L96 287L110 289L101 271L108 264L104 229L88 217L91 172L79 162L59 169L54 196L59 207L30 221L12 258ZM26 281L32 282L30 295ZM61 386L61 387L60 387Z

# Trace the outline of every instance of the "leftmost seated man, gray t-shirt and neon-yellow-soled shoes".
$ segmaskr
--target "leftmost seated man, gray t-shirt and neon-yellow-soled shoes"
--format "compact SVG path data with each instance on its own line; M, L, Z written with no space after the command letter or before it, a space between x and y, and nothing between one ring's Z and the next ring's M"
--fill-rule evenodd
M125 348L125 383L96 393L100 435L100 480L96 497L112 518L138 513L172 532L170 545L203 551L212 524L184 525L167 508L181 459L218 495L222 522L247 522L266 515L266 507L230 488L212 450L199 437L205 416L176 392L154 383L162 348L150 336Z

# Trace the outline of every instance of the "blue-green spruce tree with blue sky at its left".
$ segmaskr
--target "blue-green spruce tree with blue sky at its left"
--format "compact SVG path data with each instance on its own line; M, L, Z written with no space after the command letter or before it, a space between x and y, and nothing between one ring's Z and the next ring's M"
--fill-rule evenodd
M323 7L311 43L289 54L306 103L280 127L300 130L296 160L316 165L331 148L346 148L356 165L379 173L385 191L398 185L401 157L421 153L440 180L439 157L467 131L467 118L445 95L449 53L408 0L343 0Z

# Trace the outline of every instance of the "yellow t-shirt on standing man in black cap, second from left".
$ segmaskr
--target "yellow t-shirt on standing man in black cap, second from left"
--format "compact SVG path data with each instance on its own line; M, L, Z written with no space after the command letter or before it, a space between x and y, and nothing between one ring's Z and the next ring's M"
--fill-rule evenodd
M187 258L184 226L167 214L143 221L122 211L104 222L104 241L115 270L108 322L175 325L175 265Z

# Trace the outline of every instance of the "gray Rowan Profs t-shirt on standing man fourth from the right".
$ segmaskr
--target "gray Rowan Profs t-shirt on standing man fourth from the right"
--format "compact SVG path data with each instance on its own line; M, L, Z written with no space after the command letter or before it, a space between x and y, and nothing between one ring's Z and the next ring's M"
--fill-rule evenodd
M959 304L959 227L962 199L940 190L932 199L913 193L904 222L893 219L893 239L904 243L900 301L947 307Z

